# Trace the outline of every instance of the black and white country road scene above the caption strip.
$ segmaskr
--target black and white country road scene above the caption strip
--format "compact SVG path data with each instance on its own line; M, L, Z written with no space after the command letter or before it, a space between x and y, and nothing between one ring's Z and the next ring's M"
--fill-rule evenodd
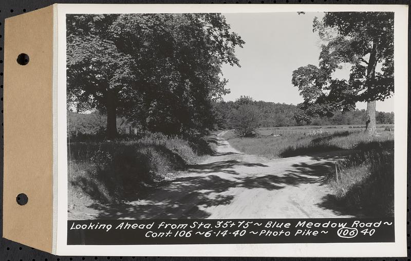
M70 220L394 217L394 12L66 27Z

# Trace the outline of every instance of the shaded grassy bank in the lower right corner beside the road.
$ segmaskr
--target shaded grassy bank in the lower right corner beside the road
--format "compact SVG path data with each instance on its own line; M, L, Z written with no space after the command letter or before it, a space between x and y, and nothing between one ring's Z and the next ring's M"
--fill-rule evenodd
M394 145L394 144L393 144ZM394 216L394 148L362 150L328 173L330 199L352 213Z

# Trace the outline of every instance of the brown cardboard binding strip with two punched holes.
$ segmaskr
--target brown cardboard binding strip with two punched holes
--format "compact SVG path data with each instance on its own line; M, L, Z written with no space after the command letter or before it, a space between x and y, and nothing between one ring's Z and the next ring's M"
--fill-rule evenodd
M4 49L3 235L51 252L53 6L6 19Z

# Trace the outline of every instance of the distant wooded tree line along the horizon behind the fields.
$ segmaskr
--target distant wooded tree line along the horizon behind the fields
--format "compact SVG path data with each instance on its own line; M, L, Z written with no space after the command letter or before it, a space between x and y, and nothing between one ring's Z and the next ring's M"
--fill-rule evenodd
M248 99L250 103L242 103ZM342 113L335 112L332 117L312 118L311 122L298 123L292 118L297 111L295 105L253 101L250 97L241 97L232 102L216 102L213 104L215 127L223 129L237 129L242 135L250 135L258 127L286 127L301 125L362 125L366 118L366 111L353 110ZM67 113L69 138L87 139L102 138L107 128L107 115L94 111L92 113ZM376 113L377 124L394 124L394 112ZM129 133L132 127L125 117L117 117L117 130L121 134ZM132 127L132 131L134 128ZM142 131L136 128L137 132Z

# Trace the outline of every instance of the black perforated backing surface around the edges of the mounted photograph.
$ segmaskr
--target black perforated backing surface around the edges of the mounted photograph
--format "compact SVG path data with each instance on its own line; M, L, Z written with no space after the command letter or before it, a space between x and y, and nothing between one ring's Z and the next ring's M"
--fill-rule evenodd
M0 96L1 96L1 107L2 107L2 114L0 115L0 121L2 122L2 148L3 148L3 58L4 58L4 19L10 16L22 14L25 12L33 11L38 8L46 7L55 3L67 3L67 4L77 4L77 3L95 3L95 4L406 4L409 5L409 0L379 0L379 1L372 1L372 0L197 0L197 1L121 1L121 0L88 0L88 1L79 1L79 0L0 0ZM409 9L411 11L411 9ZM411 15L410 15L411 17ZM410 35L411 32L409 30L410 26L408 23L408 42L410 42ZM408 53L410 52L410 48L408 46ZM409 55L408 55L409 56ZM409 73L410 71L410 63L408 61L408 75L411 76ZM408 83L408 90L409 90L409 83ZM408 92L408 101L409 97L411 96L411 92ZM411 111L410 103L408 102L408 112ZM408 129L409 129L409 121L408 121ZM410 140L408 137L408 148L410 145ZM409 151L409 150L408 150ZM0 175L0 188L3 188L3 150L0 152L0 162L1 162L1 172ZM410 164L407 163L407 170L409 170ZM408 172L408 171L407 171ZM407 194L409 193L408 187L408 180L409 176L407 176ZM3 191L3 190L2 190ZM22 191L24 193L24 191ZM0 193L0 202L3 202L3 193ZM1 205L1 204L0 204ZM410 256L410 247L409 247L409 202L407 197L407 249L408 249L408 256ZM3 208L0 208L0 218L3 217ZM29 218L29 217L28 217ZM3 223L3 222L1 222ZM0 234L3 235L2 227L0 227ZM343 251L343 249L342 249ZM160 252L160 251L159 251ZM5 238L0 238L0 261L49 261L49 260L57 260L57 261L66 261L66 260L248 260L251 258L191 258L191 257L121 257L121 256L55 256L52 254L48 254L21 244L17 244ZM253 260L315 260L315 259L322 259L322 260L330 260L331 258L252 258ZM411 261L408 257L401 257L401 258L332 258L333 260L407 260Z

